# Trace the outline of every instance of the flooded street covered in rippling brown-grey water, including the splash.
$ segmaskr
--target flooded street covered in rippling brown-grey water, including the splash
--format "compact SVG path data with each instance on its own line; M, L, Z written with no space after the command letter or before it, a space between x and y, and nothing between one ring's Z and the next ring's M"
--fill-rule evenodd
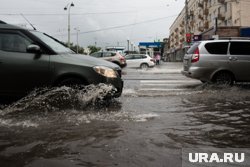
M182 148L250 147L250 88L202 84L181 64L124 69L106 85L39 90L0 110L3 167L181 167Z

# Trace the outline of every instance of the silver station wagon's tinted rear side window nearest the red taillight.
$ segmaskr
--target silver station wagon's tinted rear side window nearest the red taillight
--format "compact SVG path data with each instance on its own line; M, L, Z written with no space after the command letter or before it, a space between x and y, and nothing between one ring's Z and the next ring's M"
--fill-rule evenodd
M227 54L228 42L212 42L205 44L210 54Z

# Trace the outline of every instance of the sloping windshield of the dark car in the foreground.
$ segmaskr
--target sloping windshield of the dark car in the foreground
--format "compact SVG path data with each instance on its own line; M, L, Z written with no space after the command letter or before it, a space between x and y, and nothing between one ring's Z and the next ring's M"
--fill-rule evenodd
M52 38L45 33L38 31L31 31L31 33L42 40L44 43L46 43L56 53L74 53L72 50L61 44L57 39Z

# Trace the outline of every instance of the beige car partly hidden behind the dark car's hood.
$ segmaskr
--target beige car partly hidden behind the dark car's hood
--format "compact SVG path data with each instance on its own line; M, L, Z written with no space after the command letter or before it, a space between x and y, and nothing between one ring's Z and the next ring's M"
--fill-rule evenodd
M121 68L127 65L126 59L119 52L100 51L92 53L90 56L101 58L119 65Z

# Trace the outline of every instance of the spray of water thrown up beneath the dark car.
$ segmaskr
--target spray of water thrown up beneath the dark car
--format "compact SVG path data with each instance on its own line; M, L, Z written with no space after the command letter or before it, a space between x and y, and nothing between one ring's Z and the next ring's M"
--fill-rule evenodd
M112 96L111 85L88 85L84 88L55 87L36 89L26 97L5 107L1 115L16 112L51 112L64 109L81 109L96 103L102 103L107 96Z

